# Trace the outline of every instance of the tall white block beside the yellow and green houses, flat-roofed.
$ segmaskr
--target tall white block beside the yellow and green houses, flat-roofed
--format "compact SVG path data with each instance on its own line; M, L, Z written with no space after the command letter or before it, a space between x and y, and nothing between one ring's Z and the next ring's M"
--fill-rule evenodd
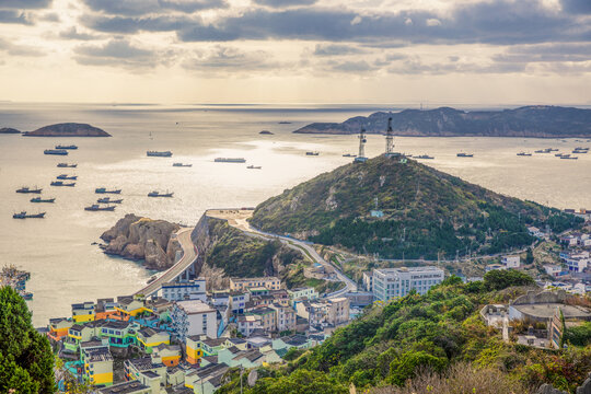
M216 310L200 300L175 302L171 310L171 320L174 333L182 341L190 335L218 337Z

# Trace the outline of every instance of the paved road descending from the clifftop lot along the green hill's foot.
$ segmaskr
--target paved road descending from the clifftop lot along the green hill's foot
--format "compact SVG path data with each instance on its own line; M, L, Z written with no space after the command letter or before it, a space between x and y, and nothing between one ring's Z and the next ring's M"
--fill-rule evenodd
M281 236L281 235L271 234L271 233L267 233L267 232L257 230L257 229L253 228L251 225L251 223L248 223L246 221L246 219L234 219L234 220L229 221L229 223L230 223L230 225L233 225L236 229L242 230L245 233L256 234L256 235L258 235L260 237L265 237L265 239L279 240L282 243L287 244L288 246L293 246L294 245L296 247L298 247L300 250L303 248L310 254L310 256L312 256L312 259L314 262L322 264L325 268L331 267L332 270L335 271L338 280L340 280L341 282L345 283L345 287L343 289L338 290L338 291L335 291L335 292L332 292L332 293L327 294L326 298L338 298L338 297L343 297L347 292L357 291L357 283L355 281L352 281L349 277L347 277L345 274L343 274L343 271L340 269L338 269L336 266L334 266L333 264L331 264L331 263L326 262L324 258L322 258L322 256L316 252L316 250L312 245L310 245L309 243L305 243L303 241L300 241L300 240L297 240L297 239L293 239L293 237Z

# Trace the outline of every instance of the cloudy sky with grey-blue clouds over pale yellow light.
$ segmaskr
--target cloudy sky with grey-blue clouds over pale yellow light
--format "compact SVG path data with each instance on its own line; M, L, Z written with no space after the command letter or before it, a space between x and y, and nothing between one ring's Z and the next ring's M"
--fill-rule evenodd
M591 104L591 0L0 0L0 100Z

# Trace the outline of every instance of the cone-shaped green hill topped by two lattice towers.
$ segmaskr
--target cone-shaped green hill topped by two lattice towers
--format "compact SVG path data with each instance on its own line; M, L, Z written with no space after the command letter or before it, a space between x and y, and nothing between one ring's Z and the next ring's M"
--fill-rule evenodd
M382 218L371 217L378 208ZM502 196L416 161L381 155L348 164L256 207L251 222L268 232L387 258L494 254L534 242L526 228L554 232L580 220Z

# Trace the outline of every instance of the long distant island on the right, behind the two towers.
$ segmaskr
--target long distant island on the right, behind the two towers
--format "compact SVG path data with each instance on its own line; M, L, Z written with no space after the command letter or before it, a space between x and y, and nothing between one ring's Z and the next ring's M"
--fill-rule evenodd
M356 116L344 123L314 123L293 132L350 135L364 128L384 134L387 118L396 136L591 138L591 109L535 105L502 111L460 111L440 107Z

